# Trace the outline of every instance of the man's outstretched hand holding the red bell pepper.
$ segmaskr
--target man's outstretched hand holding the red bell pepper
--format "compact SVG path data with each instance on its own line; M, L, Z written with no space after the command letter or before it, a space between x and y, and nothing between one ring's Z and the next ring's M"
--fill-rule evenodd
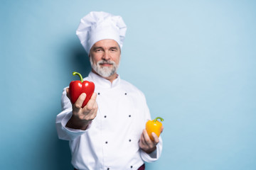
M69 88L67 88L66 91L68 98L70 98ZM82 108L82 103L85 101L86 94L83 93L79 96L78 100L73 104L73 115L66 125L68 128L86 130L89 123L97 115L96 97L97 94L93 93L90 101L88 101L87 105Z

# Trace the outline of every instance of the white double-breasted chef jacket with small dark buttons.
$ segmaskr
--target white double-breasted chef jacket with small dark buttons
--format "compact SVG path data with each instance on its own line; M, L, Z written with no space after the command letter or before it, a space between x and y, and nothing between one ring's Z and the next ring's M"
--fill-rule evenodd
M73 166L76 169L138 169L144 162L159 159L161 137L151 154L139 149L142 130L146 121L151 120L144 94L119 76L111 83L90 72L85 80L95 83L98 104L97 116L87 130L65 127L72 115L65 89L63 111L56 118L58 137L70 142Z

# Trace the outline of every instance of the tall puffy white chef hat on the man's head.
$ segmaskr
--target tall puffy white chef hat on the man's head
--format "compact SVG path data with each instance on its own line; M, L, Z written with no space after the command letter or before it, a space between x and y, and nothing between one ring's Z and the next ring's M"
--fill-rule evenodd
M92 11L80 20L76 35L89 54L92 45L100 40L115 40L121 48L126 30L127 26L121 16Z

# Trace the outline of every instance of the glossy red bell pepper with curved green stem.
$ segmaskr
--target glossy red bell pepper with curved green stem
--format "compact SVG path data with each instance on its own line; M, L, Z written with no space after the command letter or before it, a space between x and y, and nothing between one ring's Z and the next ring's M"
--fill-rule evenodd
M86 94L85 101L82 103L82 108L90 100L93 92L95 91L95 84L92 81L83 81L82 75L78 72L73 72L73 76L78 75L80 77L80 81L71 81L70 82L70 101L71 103L75 103L78 100L78 97L82 94Z

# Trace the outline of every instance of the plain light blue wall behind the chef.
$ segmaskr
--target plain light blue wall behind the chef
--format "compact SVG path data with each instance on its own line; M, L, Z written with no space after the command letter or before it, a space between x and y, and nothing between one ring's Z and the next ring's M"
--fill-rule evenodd
M55 116L89 62L75 30L90 11L128 26L119 75L164 120L147 169L256 169L255 1L1 0L0 169L72 169ZM125 153L124 153L125 154Z

